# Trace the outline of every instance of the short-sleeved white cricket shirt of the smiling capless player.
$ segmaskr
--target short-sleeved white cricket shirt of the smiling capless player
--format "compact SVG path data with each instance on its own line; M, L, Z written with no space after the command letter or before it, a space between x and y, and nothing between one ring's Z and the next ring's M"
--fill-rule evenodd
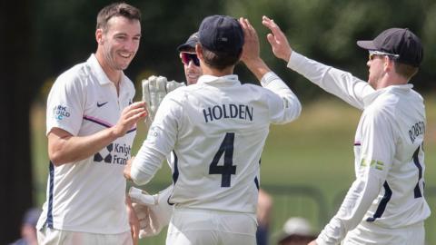
M134 84L123 74L120 94L94 54L62 73L48 95L46 126L85 136L112 127L132 103ZM125 209L124 165L136 129L79 162L50 162L47 200L38 228L115 234L130 230Z

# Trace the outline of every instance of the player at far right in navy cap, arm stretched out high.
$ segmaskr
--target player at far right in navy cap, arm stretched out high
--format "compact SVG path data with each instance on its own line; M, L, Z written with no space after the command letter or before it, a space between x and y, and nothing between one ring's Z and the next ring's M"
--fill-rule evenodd
M354 138L356 180L341 208L310 244L423 245L425 108L412 89L423 50L409 29L391 28L374 40L358 41L369 51L368 82L292 50L268 17L272 52L312 83L362 110Z

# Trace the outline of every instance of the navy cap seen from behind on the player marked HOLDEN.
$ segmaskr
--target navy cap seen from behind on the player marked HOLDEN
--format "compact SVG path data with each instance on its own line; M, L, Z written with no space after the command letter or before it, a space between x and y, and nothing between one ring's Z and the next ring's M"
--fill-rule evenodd
M239 53L243 48L243 28L230 16L205 17L198 35L200 44L212 52Z

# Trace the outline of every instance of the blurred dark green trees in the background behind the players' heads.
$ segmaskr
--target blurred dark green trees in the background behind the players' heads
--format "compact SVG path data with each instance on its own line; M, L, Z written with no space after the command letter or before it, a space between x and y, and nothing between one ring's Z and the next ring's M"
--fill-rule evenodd
M83 62L94 52L95 15L111 3L97 1L39 0L33 15L38 62L37 83L53 80L71 65ZM421 0L359 1L359 0L172 0L129 2L143 12L143 38L134 62L126 71L137 84L151 74L163 74L170 79L183 80L175 47L192 34L206 15L247 16L259 31L262 53L272 69L282 75L303 100L312 100L322 90L304 82L300 75L285 69L282 61L272 56L266 43L262 15L271 16L288 35L292 47L302 54L326 64L337 66L367 78L366 54L355 44L370 39L383 29L408 27L422 38L425 60L421 72L413 79L418 89L435 88L436 74L434 39L436 38L436 2ZM235 70L242 80L254 77L239 66ZM248 79L247 79L248 78ZM43 98L45 99L45 98Z

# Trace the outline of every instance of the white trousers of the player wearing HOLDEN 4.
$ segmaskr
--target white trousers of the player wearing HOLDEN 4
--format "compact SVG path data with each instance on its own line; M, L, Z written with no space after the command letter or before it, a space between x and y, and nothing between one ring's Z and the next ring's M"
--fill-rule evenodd
M174 208L167 245L255 245L257 221L251 213Z

